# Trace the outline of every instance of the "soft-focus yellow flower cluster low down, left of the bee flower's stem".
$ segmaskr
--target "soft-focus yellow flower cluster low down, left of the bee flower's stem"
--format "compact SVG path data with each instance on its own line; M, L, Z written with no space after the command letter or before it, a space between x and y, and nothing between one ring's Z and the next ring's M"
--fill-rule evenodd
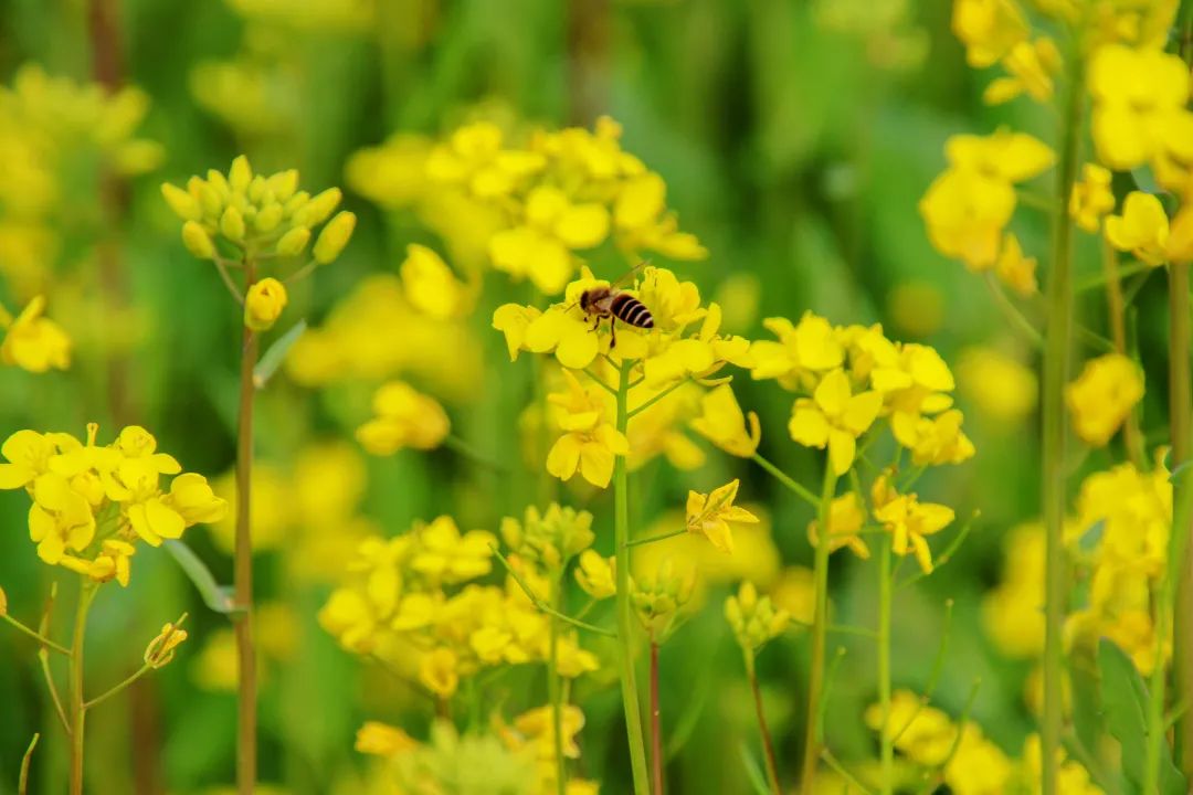
M511 577L505 588L472 582L492 571L496 536L460 533L451 517L416 523L395 539L367 538L350 564L351 582L332 594L320 623L354 653L398 667L418 659L419 682L449 698L462 678L484 667L546 659L549 619L521 584L548 598L542 561L552 547L579 552L581 542L591 542L585 530L591 521L587 514L558 507L543 515L528 511L525 523L506 520L503 535L524 555L511 558L521 583ZM531 549L543 555L539 563L525 554ZM574 633L562 634L561 676L574 678L596 667L596 658L579 646Z

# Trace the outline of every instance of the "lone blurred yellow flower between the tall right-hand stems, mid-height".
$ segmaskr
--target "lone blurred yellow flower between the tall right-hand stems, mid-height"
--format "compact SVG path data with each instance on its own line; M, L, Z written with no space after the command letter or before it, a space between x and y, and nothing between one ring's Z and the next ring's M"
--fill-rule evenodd
M1139 367L1120 354L1087 361L1081 375L1065 389L1074 428L1094 447L1109 441L1141 398L1143 375Z

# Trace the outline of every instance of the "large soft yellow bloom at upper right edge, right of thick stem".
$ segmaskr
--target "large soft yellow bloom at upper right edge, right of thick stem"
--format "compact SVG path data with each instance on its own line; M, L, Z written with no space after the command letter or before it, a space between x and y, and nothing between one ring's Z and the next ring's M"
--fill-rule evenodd
M1189 95L1185 62L1160 49L1100 48L1089 68L1098 160L1117 170L1155 157Z

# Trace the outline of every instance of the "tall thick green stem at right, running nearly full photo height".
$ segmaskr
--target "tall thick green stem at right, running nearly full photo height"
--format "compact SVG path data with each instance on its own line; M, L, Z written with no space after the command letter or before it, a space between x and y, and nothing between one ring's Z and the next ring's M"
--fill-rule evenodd
M1073 222L1068 198L1077 170L1081 117L1084 100L1083 58L1071 52L1064 113L1062 114L1061 156L1057 167L1057 209L1052 216L1052 269L1047 284L1047 331L1044 343L1043 386L1043 468L1045 564L1044 633L1044 795L1057 791L1057 760L1064 718L1064 602L1068 592L1064 513L1065 513L1065 408L1064 386L1069 379L1073 348Z

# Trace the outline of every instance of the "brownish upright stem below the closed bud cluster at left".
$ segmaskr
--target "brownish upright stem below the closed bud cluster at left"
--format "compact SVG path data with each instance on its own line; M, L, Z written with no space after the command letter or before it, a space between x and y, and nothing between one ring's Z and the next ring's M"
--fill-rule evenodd
M256 266L245 260L245 288L256 281ZM236 427L236 548L233 563L236 607L236 659L239 691L236 698L236 790L253 795L256 789L256 651L253 644L253 368L256 367L259 339L245 327L240 362L240 409Z

